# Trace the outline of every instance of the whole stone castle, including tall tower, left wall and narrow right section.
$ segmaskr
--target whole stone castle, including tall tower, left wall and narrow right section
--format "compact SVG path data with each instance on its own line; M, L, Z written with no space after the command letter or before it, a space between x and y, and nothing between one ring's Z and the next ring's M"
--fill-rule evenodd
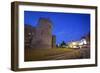
M47 18L40 18L37 26L25 25L25 48L54 48L56 36L52 35L52 22Z

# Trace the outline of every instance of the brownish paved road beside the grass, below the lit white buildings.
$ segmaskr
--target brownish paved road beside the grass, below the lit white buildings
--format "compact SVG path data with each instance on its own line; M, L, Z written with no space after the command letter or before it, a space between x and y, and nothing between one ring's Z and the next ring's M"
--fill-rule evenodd
M79 53L79 54L78 54ZM90 57L90 49L89 48L81 48L75 49L71 52L65 52L62 54L49 56L47 59L61 60L61 59L80 59L80 58L89 58Z

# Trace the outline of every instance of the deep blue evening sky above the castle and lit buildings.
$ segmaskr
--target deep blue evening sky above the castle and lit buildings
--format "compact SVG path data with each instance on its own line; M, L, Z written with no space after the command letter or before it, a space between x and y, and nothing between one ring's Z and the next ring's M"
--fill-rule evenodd
M40 17L52 21L57 44L79 40L90 32L90 14L24 11L24 24L36 26Z

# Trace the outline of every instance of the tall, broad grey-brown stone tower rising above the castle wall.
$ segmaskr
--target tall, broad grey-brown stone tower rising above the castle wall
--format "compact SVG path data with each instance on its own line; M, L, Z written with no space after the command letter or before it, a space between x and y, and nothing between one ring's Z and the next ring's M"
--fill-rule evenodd
M39 19L32 46L40 49L52 48L52 22L48 18Z

